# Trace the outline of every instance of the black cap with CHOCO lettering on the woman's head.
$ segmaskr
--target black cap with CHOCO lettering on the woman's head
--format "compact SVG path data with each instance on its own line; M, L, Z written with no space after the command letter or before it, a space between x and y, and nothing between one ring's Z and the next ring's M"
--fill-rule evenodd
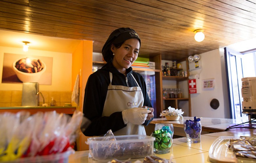
M113 31L107 41L105 42L103 48L102 48L102 55L106 62L112 62L113 60L113 53L110 50L112 44L118 44L125 40L136 38L139 40L139 46L140 46L140 38L139 35L131 28L118 28L115 31Z

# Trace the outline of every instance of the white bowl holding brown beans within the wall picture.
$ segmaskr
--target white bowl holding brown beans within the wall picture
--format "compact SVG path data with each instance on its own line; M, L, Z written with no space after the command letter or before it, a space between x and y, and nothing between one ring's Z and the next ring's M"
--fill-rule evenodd
M29 57L30 58L30 57ZM21 58L22 59L22 58ZM30 59L36 59L36 58L30 58ZM39 72L35 72L35 73L26 73L26 72L22 72L19 71L15 65L16 62L19 61L20 59L17 59L16 61L13 62L12 64L12 69L15 71L17 77L20 79L20 81L22 82L38 82L41 75L46 71L46 64L42 61L42 63L44 64L44 68L39 71Z

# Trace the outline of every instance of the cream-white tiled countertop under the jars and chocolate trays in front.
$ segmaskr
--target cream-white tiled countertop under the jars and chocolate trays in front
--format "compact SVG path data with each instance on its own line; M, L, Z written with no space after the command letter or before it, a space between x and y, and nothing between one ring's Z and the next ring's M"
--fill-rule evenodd
M170 153L156 154L156 156L169 159L173 156L173 162L175 163L208 163L209 161L209 149L212 143L219 136L256 136L256 129L246 129L244 131L232 130L226 132L215 132L201 135L201 143L189 144L186 143L186 138L173 139L173 146ZM88 159L89 151L77 151L75 154L71 154L69 157L69 163L91 163ZM139 159L139 160L143 160ZM107 161L106 161L107 162ZM93 163L97 163L93 161Z

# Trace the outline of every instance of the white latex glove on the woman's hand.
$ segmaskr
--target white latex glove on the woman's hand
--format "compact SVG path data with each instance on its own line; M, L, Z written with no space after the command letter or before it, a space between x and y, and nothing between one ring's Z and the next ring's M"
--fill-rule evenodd
M150 110L144 108L131 108L122 111L124 124L131 122L135 125L141 125L145 122Z

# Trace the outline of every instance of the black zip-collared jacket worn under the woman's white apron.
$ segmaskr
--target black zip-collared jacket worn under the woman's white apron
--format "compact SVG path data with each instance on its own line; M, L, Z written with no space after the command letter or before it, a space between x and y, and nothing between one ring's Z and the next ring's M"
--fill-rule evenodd
M117 71L112 63L105 64L101 69L89 76L85 87L83 104L84 116L91 120L91 124L83 132L86 136L99 136L105 134L110 129L112 132L115 132L126 127L126 124L123 122L122 112L113 112L110 116L101 117L110 83L109 71L113 74L112 85L127 86L124 74ZM127 72L129 87L137 86L131 76L132 73L142 90L144 96L143 106L152 107L142 75L132 71L131 67L127 69ZM113 107L115 107L115 104L113 104ZM153 118L146 120L143 125L148 125L152 120Z

